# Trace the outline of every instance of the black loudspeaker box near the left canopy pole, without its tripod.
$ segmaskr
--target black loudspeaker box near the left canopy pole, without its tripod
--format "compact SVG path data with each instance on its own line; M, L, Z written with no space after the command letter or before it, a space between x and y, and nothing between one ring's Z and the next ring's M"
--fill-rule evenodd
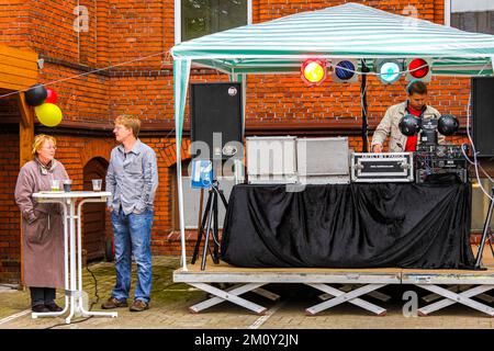
M226 160L243 154L239 82L190 84L190 116L194 158Z

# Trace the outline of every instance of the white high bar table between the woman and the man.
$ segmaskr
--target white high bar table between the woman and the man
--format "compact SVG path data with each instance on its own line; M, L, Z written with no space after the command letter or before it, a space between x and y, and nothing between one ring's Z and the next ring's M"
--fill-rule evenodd
M116 317L116 312L89 312L82 304L82 240L81 240L81 210L88 202L106 202L110 192L104 191L70 191L70 192L38 192L33 194L38 203L58 203L64 210L64 268L65 268L65 308L55 313L33 313L32 318L61 316L70 308L65 322L70 324L76 314L82 317L101 316ZM76 203L77 215L76 215ZM76 224L77 219L77 224ZM77 225L77 231L76 231ZM76 253L77 249L77 253ZM70 254L69 254L70 251ZM77 254L77 256L76 256ZM77 260L77 262L76 262Z

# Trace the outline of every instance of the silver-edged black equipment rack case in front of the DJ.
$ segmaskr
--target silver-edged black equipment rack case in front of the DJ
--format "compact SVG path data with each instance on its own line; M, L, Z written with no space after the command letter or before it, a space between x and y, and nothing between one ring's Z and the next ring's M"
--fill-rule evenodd
M413 152L359 154L352 152L352 182L413 182Z

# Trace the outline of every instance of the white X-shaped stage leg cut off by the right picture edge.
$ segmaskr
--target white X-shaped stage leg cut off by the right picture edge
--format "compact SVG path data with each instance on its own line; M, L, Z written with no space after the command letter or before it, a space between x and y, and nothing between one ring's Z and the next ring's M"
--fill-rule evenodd
M416 284L417 286L428 290L429 292L436 293L438 295L441 295L446 297L445 299L441 299L437 303L434 303L431 305L422 307L417 310L419 316L427 316L430 313L445 308L447 306L451 306L453 304L462 304L465 306L469 306L471 308L474 308L476 310L483 312L484 314L490 315L491 317L494 317L494 308L481 304L470 297L480 295L482 293L485 293L492 288L494 288L494 285L479 285L476 287L472 287L465 292L462 292L460 294L453 293L447 288L440 287L438 285L428 285L428 284Z

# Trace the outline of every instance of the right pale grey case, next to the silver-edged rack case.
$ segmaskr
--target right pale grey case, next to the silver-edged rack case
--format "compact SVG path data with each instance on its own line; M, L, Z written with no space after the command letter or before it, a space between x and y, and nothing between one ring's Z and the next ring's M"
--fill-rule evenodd
M348 163L347 137L296 139L296 166L302 184L348 184Z

